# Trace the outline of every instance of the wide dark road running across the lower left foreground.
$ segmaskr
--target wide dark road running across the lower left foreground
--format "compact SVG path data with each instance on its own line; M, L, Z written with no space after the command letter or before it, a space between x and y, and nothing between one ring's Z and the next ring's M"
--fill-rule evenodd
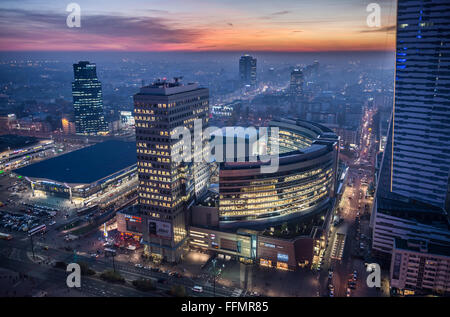
M0 241L0 267L13 270L15 272L27 273L29 276L38 281L36 288L61 288L67 289L65 286L67 274L61 269L54 268L51 263L55 261L62 261L71 263L74 259L74 254L65 250L52 248L49 246L48 250L42 247L48 245L47 243L36 242L35 254L37 260L33 261L31 255L31 244L26 238L18 238L10 241ZM77 262L88 263L89 267L96 272L104 272L113 268L111 258L95 259L84 255L76 255ZM194 281L189 278L170 277L167 274L152 272L144 268L137 268L128 263L115 261L115 269L124 277L129 285L133 280L146 278L155 281L156 290L152 292L140 292L131 286L124 286L118 284L111 284L102 281L98 278L82 277L82 285L79 290L82 294L87 296L167 296L167 291L173 285L184 285L189 296L213 296L213 287L203 285L202 282ZM158 279L165 279L167 284L158 283ZM194 293L190 289L194 285L203 286L203 293ZM231 297L234 289L224 289L217 287L216 296Z

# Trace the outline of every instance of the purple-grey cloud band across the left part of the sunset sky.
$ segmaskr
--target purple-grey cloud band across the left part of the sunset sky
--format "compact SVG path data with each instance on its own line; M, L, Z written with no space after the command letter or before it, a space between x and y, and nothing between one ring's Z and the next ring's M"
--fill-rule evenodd
M67 15L54 12L27 10L0 11L0 37L33 38L36 34L51 38L52 31L67 31L80 36L95 35L105 38L129 37L149 43L190 43L201 36L201 30L174 26L161 17L130 17L120 15L81 15L81 28L70 29ZM44 32L44 33L43 33Z

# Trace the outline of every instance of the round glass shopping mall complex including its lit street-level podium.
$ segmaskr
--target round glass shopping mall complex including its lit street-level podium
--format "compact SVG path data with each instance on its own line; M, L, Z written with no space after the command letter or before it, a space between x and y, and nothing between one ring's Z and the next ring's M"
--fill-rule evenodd
M188 245L244 263L312 268L323 255L342 179L339 138L302 120L273 120L270 127L279 129L278 170L263 173L261 162L220 163L218 190L212 187L190 209ZM142 224L133 217L134 209L124 211L119 231L137 235Z

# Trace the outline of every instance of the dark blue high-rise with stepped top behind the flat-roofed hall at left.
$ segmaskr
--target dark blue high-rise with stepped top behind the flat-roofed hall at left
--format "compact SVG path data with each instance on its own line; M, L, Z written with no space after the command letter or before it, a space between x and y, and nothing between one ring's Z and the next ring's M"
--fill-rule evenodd
M79 62L73 65L72 96L77 134L106 133L103 114L102 84L95 64Z

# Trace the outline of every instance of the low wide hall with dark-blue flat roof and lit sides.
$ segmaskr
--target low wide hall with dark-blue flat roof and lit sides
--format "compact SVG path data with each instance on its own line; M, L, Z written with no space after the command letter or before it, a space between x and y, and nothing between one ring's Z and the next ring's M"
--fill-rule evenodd
M118 159L120 158L120 159ZM35 192L87 202L136 177L136 144L108 140L13 171Z

